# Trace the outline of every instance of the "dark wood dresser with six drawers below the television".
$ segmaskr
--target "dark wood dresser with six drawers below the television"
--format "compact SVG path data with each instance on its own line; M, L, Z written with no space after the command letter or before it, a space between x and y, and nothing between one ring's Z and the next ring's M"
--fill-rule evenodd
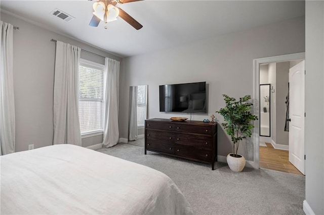
M145 154L155 151L212 165L217 161L217 123L145 120Z

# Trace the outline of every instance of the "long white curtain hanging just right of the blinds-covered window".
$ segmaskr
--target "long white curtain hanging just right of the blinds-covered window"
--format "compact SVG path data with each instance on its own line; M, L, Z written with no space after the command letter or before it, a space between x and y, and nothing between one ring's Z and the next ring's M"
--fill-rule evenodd
M120 62L105 59L105 109L103 147L117 144L119 139L118 129L118 97L119 97L119 65Z

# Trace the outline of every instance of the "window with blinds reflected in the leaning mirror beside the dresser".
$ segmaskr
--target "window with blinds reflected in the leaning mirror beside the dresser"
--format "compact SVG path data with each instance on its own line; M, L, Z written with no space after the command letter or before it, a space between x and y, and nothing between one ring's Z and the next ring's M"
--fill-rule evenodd
M137 127L144 127L146 120L146 95L147 85L141 85L137 88Z

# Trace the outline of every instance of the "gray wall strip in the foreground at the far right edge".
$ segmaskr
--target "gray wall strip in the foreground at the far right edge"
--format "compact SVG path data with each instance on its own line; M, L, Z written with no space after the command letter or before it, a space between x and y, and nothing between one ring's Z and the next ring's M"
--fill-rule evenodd
M306 1L306 201L324 214L324 2Z

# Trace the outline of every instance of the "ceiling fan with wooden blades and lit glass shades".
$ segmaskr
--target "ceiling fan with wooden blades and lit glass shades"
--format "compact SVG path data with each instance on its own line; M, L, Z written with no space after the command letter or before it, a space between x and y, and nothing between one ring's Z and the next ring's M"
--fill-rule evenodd
M89 0L92 1L92 0ZM133 17L126 13L123 9L115 7L118 4L126 4L131 2L138 2L143 0L97 0L93 4L93 17L89 23L90 26L97 27L100 21L105 23L117 20L119 16L121 19L128 22L136 30L141 29L143 26L137 22ZM107 28L105 26L105 28Z

